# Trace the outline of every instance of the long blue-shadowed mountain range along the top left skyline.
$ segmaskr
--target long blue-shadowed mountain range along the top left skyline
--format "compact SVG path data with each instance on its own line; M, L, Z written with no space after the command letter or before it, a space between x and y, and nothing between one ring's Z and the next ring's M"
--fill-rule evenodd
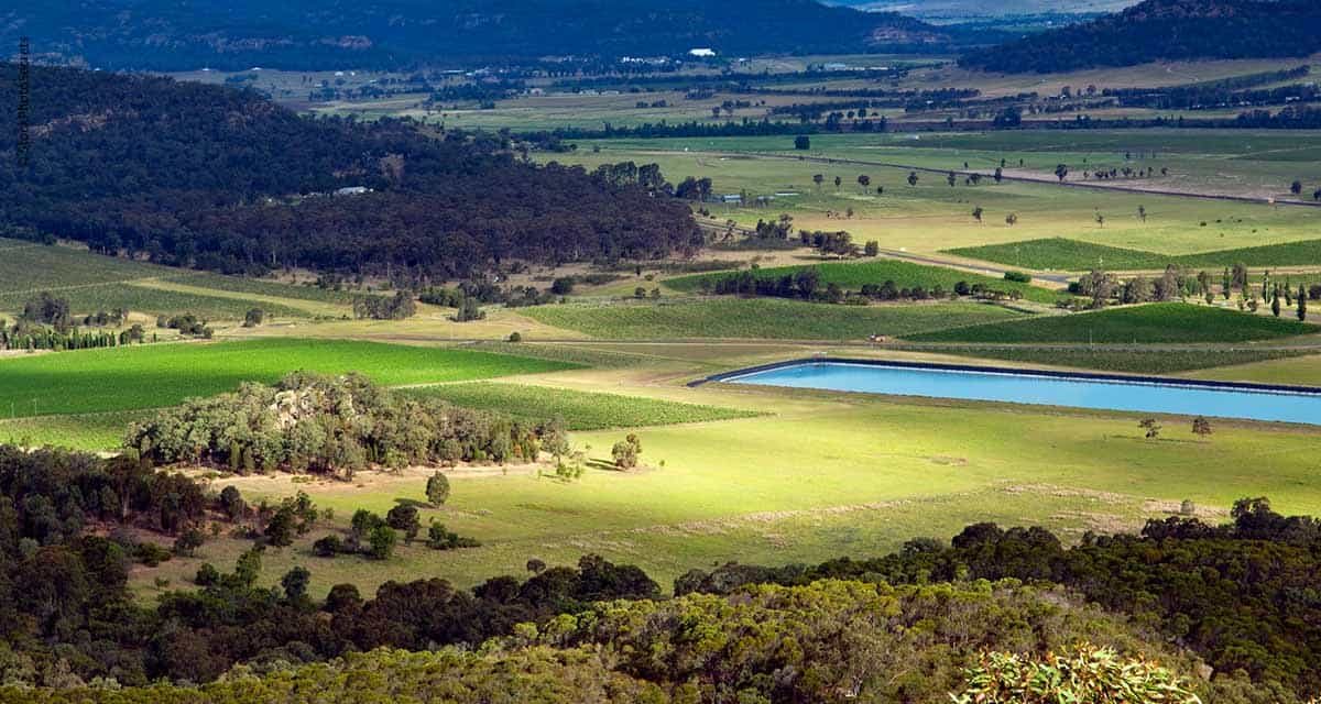
M815 0L74 0L0 9L0 46L17 46L20 36L32 37L38 57L114 70L384 69L694 48L921 50L951 41L918 20Z

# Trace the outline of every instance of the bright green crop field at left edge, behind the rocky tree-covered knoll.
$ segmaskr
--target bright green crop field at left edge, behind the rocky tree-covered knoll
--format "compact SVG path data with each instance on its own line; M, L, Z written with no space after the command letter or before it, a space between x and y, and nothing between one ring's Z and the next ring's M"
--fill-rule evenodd
M131 411L273 383L296 371L361 371L384 386L461 382L575 365L355 341L159 343L0 359L0 416Z

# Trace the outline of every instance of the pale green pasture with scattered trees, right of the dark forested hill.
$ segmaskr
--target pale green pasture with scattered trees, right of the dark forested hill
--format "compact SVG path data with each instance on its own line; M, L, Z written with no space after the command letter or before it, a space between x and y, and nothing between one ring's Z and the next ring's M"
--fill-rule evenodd
M933 149L913 143L910 135L835 137L812 136L812 149L807 155L794 153L791 136L777 136L612 140L592 145L600 151L580 147L575 153L542 155L540 158L581 164L589 169L618 161L655 162L671 182L690 176L708 177L713 193L748 197L746 205L703 203L701 207L717 219L733 219L752 227L758 219L775 219L787 213L794 217L798 229L845 230L857 242L875 239L886 248L917 252L1067 238L1116 248L1188 255L1316 239L1316 210L1272 206L1264 199L1260 203L1206 201L1061 188L1050 182L995 184L989 177L979 185L968 185L966 178L956 177L955 185L950 186L945 173L927 172L918 172L917 184L909 185L909 168L797 158L855 158L941 172L962 170L968 162L970 168L985 173L989 173L988 165L993 170L991 161L999 164L999 158L1025 158L1029 169L1033 168L1030 158L1037 158L1037 166L1048 172L1061 160L1052 152ZM929 139L926 135L921 137ZM911 144L904 144L901 140L905 139ZM823 147L818 148L818 144ZM779 156L756 152L777 152ZM983 161L979 162L979 158ZM1260 162L1218 158L1197 168L1235 180L1247 178L1242 164ZM1074 168L1081 173L1079 166ZM1293 170L1284 169L1271 177L1279 181L1279 189L1285 194L1295 178ZM814 181L818 174L823 177L820 185ZM865 188L857 181L860 176L869 180ZM836 177L839 186L835 186ZM1321 174L1316 181L1321 186ZM1164 186L1159 177L1149 182L1144 180L1143 185ZM876 193L877 188L884 192ZM1306 188L1310 193L1312 186ZM758 206L754 202L757 197L771 199ZM982 209L980 221L972 215L976 209ZM1139 217L1139 209L1145 211L1145 219ZM1015 225L1007 222L1011 214L1017 218Z

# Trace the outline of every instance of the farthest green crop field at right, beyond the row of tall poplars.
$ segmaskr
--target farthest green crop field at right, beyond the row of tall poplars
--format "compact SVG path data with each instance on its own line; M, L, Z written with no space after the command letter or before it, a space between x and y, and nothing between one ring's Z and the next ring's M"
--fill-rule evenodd
M948 250L948 254L1032 269L1059 271L1085 271L1095 267L1119 271L1162 269L1168 264L1190 268L1223 268L1238 263L1248 267L1321 267L1321 240L1318 239L1170 256L1050 238L985 247L964 247Z

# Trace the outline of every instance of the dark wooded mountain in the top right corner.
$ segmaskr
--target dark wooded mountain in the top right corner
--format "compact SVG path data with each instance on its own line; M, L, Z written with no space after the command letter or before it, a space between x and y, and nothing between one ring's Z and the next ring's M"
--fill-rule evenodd
M1316 52L1321 52L1321 3L1316 0L1145 0L1091 22L972 52L959 63L989 71L1052 73Z

